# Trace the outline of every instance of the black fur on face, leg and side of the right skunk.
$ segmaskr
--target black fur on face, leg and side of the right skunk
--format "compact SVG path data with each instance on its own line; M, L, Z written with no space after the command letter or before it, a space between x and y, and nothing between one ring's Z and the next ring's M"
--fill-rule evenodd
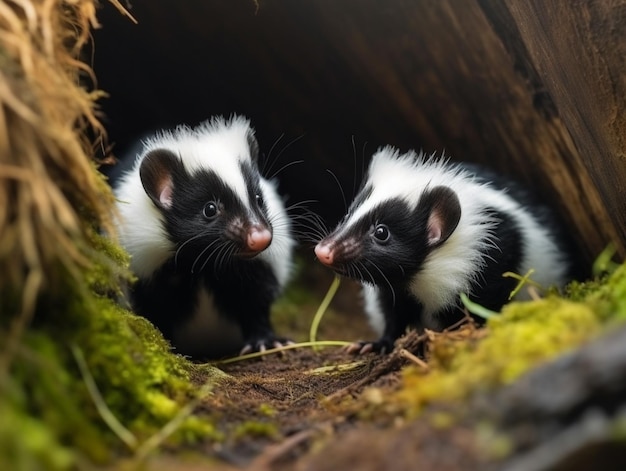
M549 230L561 249L566 248L566 244L561 244L564 238L558 221L529 192L478 166L460 167L473 174L477 183L490 182L492 188L510 194ZM452 167L449 170L454 171ZM478 187L477 191L480 191ZM428 255L445 244L456 229L461 205L453 189L437 186L426 189L413 210L403 199L391 198L382 201L360 220L352 221L354 212L370 198L372 192L370 186L361 188L348 214L335 231L318 244L316 253L337 273L377 287L377 300L384 316L383 333L377 341L359 342L359 347L351 350L359 351L361 347L366 347L367 350L385 352L393 348L395 340L408 327L419 330L426 326L433 328L436 327L434 321L439 328L444 328L464 316L463 306L457 298L456 304L448 304L431 313L434 319L429 320L429 325L424 325L424 308L418 294L411 291L411 283L422 270ZM517 280L502 274L519 273L525 253L531 249L525 246L522 228L513 215L495 206L487 206L482 211L482 217L493 244L487 244L482 249L484 266L479 267L475 279L470 278L473 281L470 281L468 294L474 302L499 311L517 285ZM377 233L384 237L376 237ZM479 317L476 320L479 323L484 321Z

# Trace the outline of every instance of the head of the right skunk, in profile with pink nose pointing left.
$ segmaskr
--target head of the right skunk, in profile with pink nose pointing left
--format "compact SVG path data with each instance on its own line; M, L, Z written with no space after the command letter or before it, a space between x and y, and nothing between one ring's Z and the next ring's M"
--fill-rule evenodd
M441 165L424 165L415 154L399 156L389 147L380 150L346 216L315 247L318 260L376 285L408 280L461 217L457 194L429 176Z

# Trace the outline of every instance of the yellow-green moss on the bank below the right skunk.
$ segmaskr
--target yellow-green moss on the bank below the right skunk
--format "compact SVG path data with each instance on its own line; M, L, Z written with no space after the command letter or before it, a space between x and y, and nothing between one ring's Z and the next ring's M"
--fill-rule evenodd
M538 362L589 339L599 326L589 307L564 299L512 303L489 320L482 339L437 337L430 373L408 368L401 400L418 411L427 403L460 400L510 383Z

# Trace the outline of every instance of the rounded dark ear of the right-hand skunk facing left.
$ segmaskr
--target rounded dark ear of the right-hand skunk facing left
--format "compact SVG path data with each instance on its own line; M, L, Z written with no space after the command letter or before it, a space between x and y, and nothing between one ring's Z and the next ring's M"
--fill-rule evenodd
M459 197L447 186L436 186L422 196L420 205L429 211L426 226L428 246L437 247L448 240L459 224Z

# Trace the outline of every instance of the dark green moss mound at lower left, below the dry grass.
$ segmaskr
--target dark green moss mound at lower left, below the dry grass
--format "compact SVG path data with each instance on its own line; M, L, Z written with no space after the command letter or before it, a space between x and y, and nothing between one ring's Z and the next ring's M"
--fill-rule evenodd
M84 283L59 268L55 289L40 297L9 375L0 375L0 450L10 469L64 470L132 455L103 420L72 348L84 357L104 407L134 437L131 448L181 419L198 395L199 379L214 382L224 376L174 355L146 319L105 296L121 294L127 258L95 233L91 242L97 254L84 269ZM0 329L0 344L7 335ZM213 424L198 417L183 414L179 422L166 443L221 438Z

